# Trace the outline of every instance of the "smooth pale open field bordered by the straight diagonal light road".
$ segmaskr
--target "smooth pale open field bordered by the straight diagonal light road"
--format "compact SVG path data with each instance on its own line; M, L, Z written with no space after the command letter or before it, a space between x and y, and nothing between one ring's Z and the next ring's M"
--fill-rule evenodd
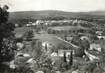
M65 48L69 48L69 49L72 49L74 47L79 48L79 47L73 45L72 43L66 42L66 41L62 40L61 38L51 35L51 34L36 34L34 39L47 41L47 42L53 44L56 48L59 45L64 46Z

